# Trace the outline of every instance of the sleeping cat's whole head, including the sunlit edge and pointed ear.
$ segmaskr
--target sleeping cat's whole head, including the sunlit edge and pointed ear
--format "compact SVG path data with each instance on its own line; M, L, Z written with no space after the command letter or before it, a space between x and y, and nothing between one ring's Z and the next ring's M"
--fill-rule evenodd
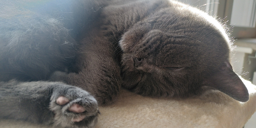
M228 36L203 16L165 16L138 22L120 40L123 86L158 97L186 97L210 86L246 102L248 91L229 63Z

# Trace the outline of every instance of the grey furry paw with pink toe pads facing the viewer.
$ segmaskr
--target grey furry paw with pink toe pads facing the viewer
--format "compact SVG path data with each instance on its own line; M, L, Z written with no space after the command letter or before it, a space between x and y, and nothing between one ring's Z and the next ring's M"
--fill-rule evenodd
M56 88L50 110L55 114L54 126L61 128L94 128L100 114L94 97L74 86Z

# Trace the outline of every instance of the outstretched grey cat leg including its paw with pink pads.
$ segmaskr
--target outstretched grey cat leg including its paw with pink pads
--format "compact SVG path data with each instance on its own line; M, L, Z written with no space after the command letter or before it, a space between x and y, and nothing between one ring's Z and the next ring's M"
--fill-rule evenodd
M0 118L93 128L98 103L85 90L61 82L0 82Z

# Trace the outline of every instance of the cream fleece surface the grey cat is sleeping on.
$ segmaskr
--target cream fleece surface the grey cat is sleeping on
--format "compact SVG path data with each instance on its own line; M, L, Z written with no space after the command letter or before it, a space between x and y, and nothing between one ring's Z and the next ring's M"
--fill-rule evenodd
M216 90L184 100L149 98L121 90L117 102L99 108L96 128L242 128L256 111L256 86L243 82L250 94L245 103ZM50 126L0 120L0 128Z

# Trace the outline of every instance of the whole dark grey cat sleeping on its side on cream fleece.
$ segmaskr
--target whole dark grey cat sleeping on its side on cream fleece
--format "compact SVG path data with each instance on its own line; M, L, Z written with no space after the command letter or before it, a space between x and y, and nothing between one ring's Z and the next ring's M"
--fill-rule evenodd
M93 128L119 89L246 102L214 18L169 0L1 0L0 118Z

